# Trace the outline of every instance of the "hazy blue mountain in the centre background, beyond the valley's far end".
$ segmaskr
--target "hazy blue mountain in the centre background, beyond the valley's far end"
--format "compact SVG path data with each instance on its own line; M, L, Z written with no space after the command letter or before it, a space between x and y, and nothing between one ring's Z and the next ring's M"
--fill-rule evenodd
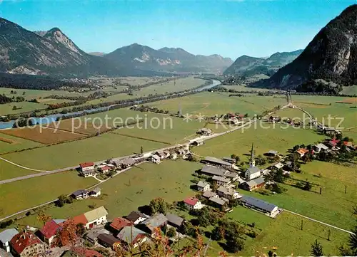
M155 50L149 46L134 43L106 54L117 65L131 65L142 70L166 72L209 72L221 73L233 61L222 56L195 56L182 48L161 48Z

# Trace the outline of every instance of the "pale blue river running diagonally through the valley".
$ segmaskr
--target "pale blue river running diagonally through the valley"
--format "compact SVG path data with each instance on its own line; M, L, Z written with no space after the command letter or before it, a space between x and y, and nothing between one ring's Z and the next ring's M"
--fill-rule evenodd
M207 90L210 88L215 87L216 85L221 85L221 82L218 80L212 80L212 84L211 85L205 85L203 88L198 88L198 89L193 89L191 91L194 92L201 92L203 90ZM133 105L134 104L140 104L141 101L133 101ZM114 106L114 105L111 105ZM48 124L51 122L55 122L57 120L58 117L68 117L68 116L75 116L75 115L83 115L84 113L87 114L91 114L92 112L98 112L98 111L106 111L109 110L111 106L105 106L105 107L98 107L98 108L94 108L94 109L89 109L89 110L81 110L78 112L68 112L66 114L62 114L62 113L57 113L57 114L51 114L51 115L47 115L44 117L33 117L32 120L34 121L35 124L39 123L40 125L44 125L44 124ZM12 126L14 125L15 120L10 120L8 122L0 122L0 130L4 130L4 129L10 129L12 128Z

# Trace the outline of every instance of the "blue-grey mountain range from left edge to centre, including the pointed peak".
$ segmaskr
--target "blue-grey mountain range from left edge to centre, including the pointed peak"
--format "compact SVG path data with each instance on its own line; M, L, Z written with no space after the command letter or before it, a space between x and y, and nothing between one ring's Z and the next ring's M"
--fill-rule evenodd
M28 31L0 18L0 71L36 75L167 75L218 73L233 61L195 56L181 48L132 44L108 54L85 53L59 28Z

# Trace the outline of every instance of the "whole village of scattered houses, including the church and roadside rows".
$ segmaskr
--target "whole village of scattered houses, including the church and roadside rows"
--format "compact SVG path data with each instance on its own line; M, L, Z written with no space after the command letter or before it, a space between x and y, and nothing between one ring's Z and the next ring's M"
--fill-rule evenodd
M323 130L323 133L331 138L316 145L293 146L286 156L279 154L276 150L270 150L264 154L266 157L264 162L261 162L261 157L254 155L252 144L246 169L242 169L239 157L234 154L222 159L196 157L195 147L204 144L204 139L198 138L192 140L190 145L169 147L162 151L141 152L132 157L108 159L99 164L81 163L77 171L83 177L95 177L101 181L101 179L110 179L143 162L160 164L165 159L178 158L186 159L188 162L200 162L201 169L193 172L196 184L191 185L196 195L188 196L176 204L181 210L191 214L201 209L208 209L224 215L240 205L275 219L281 214L283 208L251 195L245 195L244 192L269 188L275 194L279 191L277 182L280 181L275 179L278 174L289 177L291 172L300 172L301 162L312 161L312 159L326 161L338 154L356 153L356 145L353 145L348 137L342 138L341 132L326 130L326 127L318 127L318 130ZM211 130L205 128L198 130L197 133L202 137L212 135ZM257 161L259 165L256 164ZM103 193L100 187L78 189L66 196L66 199L58 201L81 201L100 197ZM164 200L153 199L153 201ZM171 204L167 203L167 206ZM149 213L133 210L127 216L118 216L110 221L107 219L108 211L104 206L93 208L91 211L71 218L51 219L50 216L46 218L46 215L42 214L46 219L44 218L44 226L41 228L33 228L29 224L23 229L13 228L2 231L0 242L4 250L1 249L1 252L4 252L6 256L12 254L21 257L34 256L34 254L37 256L71 256L73 252L84 253L86 257L101 257L108 256L107 253L114 253L118 248L134 249L143 243L153 243L159 236L166 236L171 243L179 241L180 238L194 237L194 233L188 233L187 228L183 229L190 221L175 214L175 211L171 213L172 208L159 208ZM73 247L70 247L70 242L65 242L62 238L64 231L71 226L74 226L75 233L79 235L82 242L77 241ZM97 246L105 249L105 251L102 250L105 253L94 250Z

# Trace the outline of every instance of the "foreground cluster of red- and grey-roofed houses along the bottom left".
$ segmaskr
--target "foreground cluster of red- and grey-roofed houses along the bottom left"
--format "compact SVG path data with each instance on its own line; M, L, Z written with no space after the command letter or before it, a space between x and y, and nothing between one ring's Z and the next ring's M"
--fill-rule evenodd
M164 226L180 229L185 222L176 214L148 216L139 211L131 211L128 216L116 217L111 222L108 222L107 215L108 212L101 206L71 219L51 219L37 231L24 229L19 232L16 229L6 229L0 233L1 247L7 252L6 256L11 256L10 253L21 257L45 255L56 246L59 231L71 222L75 225L83 224L86 228L84 238L92 245L116 251L119 245L136 248L141 243L151 243L151 239L156 238ZM84 251L85 256L102 257L100 253L84 246L77 250Z

